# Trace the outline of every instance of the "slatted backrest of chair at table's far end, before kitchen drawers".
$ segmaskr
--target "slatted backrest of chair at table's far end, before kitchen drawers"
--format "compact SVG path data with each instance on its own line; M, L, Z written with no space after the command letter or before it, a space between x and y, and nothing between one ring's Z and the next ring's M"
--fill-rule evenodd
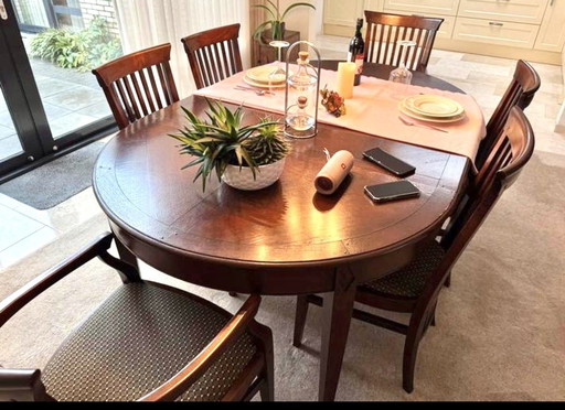
M365 10L365 62L398 66L403 50L397 42L412 40L416 46L406 53L406 67L426 71L436 33L444 19Z

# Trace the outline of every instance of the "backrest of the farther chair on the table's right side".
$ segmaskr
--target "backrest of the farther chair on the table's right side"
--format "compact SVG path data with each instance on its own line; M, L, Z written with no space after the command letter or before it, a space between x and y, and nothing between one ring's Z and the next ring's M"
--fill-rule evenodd
M535 93L540 89L541 80L535 69L525 61L519 60L514 77L507 88L497 109L487 125L487 137L481 141L475 164L480 170L489 155L490 149L497 140L500 130L504 127L512 107L525 109Z

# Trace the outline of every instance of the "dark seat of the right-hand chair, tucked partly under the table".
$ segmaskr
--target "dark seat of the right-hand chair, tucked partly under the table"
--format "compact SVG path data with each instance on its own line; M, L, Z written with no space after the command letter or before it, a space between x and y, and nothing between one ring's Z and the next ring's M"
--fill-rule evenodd
M444 258L444 249L435 240L418 252L405 268L381 279L363 284L364 291L376 291L394 296L418 298L426 280Z

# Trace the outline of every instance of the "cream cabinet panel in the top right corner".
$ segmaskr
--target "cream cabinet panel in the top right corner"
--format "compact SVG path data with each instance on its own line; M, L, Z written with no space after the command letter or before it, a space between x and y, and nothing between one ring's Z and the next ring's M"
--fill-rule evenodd
M565 0L550 0L534 48L561 53L565 45Z

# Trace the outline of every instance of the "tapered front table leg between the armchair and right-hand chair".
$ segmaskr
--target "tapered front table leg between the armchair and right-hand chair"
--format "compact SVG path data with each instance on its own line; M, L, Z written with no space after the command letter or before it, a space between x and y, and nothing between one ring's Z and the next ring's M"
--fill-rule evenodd
M356 281L347 268L335 274L335 290L323 295L323 328L320 358L321 401L333 401L340 379L341 364L353 314Z

